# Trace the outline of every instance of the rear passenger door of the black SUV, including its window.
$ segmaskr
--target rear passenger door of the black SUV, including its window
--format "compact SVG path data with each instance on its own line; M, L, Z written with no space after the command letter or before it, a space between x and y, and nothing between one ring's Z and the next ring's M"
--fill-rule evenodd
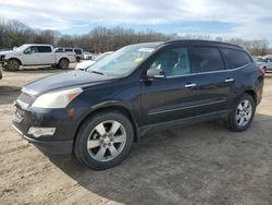
M225 69L218 47L191 46L191 67L198 79L198 114L223 111L233 92L235 75Z

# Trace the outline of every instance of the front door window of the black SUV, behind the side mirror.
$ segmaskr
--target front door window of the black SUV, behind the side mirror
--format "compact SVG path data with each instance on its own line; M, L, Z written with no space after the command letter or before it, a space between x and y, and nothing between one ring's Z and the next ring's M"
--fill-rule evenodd
M151 64L150 69L163 70L166 76L184 75L190 73L187 48L175 48L161 53Z

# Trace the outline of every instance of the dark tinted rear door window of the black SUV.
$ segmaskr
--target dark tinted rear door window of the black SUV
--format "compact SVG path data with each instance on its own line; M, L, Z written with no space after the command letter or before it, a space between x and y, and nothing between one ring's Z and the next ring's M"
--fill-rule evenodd
M224 70L223 59L218 48L193 47L193 67L195 72L208 72Z

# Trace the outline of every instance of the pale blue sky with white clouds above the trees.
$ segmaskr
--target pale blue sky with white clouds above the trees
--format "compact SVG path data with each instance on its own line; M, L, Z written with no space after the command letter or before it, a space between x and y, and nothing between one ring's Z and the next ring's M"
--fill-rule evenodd
M0 0L0 17L62 34L123 26L165 34L272 40L269 0Z

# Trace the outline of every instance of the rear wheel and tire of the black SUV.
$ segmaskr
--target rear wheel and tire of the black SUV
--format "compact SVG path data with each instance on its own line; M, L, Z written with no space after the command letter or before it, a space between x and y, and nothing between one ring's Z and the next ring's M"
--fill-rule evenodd
M226 125L234 132L243 132L252 123L256 111L256 102L252 96L244 94L233 107L227 117Z

